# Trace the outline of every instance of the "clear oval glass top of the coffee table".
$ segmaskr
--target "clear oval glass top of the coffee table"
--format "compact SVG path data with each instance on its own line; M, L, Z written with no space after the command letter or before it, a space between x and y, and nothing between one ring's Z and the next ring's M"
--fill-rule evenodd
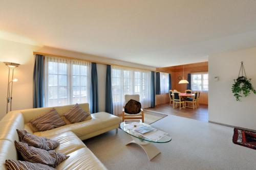
M162 130L160 130L159 128L156 128L156 127L154 127L154 126L152 126L152 125L148 125L148 124L141 123L141 122L138 123L138 124L139 124L139 126L141 126L141 125L142 125L142 126L148 126L148 127L153 128L153 129L162 131ZM142 135L142 134L140 134L140 133L138 133L138 132L135 132L133 129L131 129L131 126L127 126L127 125L129 125L129 123L122 122L122 123L120 124L120 128L121 128L124 132L126 132L126 133L128 133L128 134L130 134L130 135L132 135L132 136L134 136L134 137L136 137L136 138L139 138L139 139L141 139L141 140L150 141L150 142L155 142L155 143L166 143L166 142L169 142L169 141L172 140L172 137L170 137L169 134L167 134L167 135L161 137L161 138L158 139L158 140L153 140L153 139L151 139L151 138L145 137L145 136L147 136L149 133L152 133L152 132L148 132L148 133ZM162 132L164 132L164 131L162 131ZM164 132L164 133L165 133L165 132Z

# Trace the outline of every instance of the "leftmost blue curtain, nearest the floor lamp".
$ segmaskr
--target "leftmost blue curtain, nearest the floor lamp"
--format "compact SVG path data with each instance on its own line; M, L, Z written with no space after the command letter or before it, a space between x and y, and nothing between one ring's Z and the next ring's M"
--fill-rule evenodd
M44 107L44 56L35 55L33 72L33 108Z

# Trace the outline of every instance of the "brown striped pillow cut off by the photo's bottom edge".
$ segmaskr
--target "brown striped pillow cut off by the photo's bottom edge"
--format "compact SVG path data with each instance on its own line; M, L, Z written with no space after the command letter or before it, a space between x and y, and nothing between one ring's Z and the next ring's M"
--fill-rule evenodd
M9 170L28 170L28 169L29 170L39 170L39 169L55 170L55 168L50 167L48 165L41 164L41 163L31 163L26 161L10 160L10 159L7 159L5 161L5 165Z

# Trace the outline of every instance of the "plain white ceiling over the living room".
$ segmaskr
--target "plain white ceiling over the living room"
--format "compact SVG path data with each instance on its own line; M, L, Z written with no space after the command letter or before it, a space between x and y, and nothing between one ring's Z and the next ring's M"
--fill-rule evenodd
M0 0L0 30L43 45L163 67L256 46L246 0Z

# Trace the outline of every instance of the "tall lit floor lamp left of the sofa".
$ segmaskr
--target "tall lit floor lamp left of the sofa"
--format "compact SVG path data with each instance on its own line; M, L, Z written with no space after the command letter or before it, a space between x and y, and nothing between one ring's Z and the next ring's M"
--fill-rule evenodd
M18 79L13 79L14 69L19 66L17 63L4 62L8 66L8 88L7 88L7 102L6 102L6 113L8 113L8 107L10 103L10 111L12 110L12 85L13 82L18 81ZM10 79L11 78L11 79ZM11 80L11 81L10 81Z

